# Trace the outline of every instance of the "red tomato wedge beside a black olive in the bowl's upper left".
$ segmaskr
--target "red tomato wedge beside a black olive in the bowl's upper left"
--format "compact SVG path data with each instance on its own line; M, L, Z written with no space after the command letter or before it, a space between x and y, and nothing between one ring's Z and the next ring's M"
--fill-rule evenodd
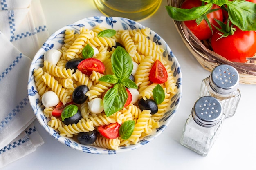
M78 64L77 69L79 69L82 73L90 76L92 71L97 71L103 74L105 71L105 66L100 60L96 58L87 58Z

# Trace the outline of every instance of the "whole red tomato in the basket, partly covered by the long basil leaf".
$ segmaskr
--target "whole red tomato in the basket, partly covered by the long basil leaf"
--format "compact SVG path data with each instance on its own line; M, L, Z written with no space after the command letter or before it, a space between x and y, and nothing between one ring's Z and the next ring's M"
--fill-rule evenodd
M200 0L185 0L182 3L181 8L184 9L191 9L193 7L199 7L202 5L202 1ZM223 15L222 15L222 10L221 8L216 5L213 4L211 9L220 9L211 13L207 14L207 18L209 20L209 22L211 23L211 25L215 25L218 26L217 22L213 19L216 18L217 20L223 21ZM190 29L190 31L192 31L192 33L195 34L195 36L199 39L199 40L207 40L212 36L212 32L211 29L209 27L209 25L207 24L206 20L202 20L202 22L198 25L195 20L192 21L184 21L185 25ZM214 26L211 26L213 31L216 30L216 28Z

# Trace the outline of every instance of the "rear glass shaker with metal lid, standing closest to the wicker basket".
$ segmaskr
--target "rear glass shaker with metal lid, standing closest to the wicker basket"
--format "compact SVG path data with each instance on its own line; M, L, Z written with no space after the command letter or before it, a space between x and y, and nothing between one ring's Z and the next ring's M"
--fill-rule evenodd
M202 80L199 97L215 97L222 104L226 118L231 117L235 114L241 97L238 86L238 71L226 64L219 65L212 70L209 77Z

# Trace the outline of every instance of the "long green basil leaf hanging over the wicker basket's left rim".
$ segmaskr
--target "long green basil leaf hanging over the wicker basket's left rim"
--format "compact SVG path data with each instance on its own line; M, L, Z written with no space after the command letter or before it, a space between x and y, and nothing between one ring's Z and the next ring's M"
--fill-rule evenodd
M182 9L172 6L166 6L166 10L168 12L168 15L173 18L173 20L191 21L196 20L197 18L200 18L202 15L207 13L207 11L211 9L212 5L212 3L209 3L203 6L193 7L191 9Z

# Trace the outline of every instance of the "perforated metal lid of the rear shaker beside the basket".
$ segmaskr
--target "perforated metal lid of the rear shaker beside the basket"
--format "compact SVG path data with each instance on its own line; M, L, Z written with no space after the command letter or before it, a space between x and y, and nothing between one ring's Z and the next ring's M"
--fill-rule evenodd
M233 93L239 86L238 71L227 64L216 66L210 74L209 84L217 93Z

